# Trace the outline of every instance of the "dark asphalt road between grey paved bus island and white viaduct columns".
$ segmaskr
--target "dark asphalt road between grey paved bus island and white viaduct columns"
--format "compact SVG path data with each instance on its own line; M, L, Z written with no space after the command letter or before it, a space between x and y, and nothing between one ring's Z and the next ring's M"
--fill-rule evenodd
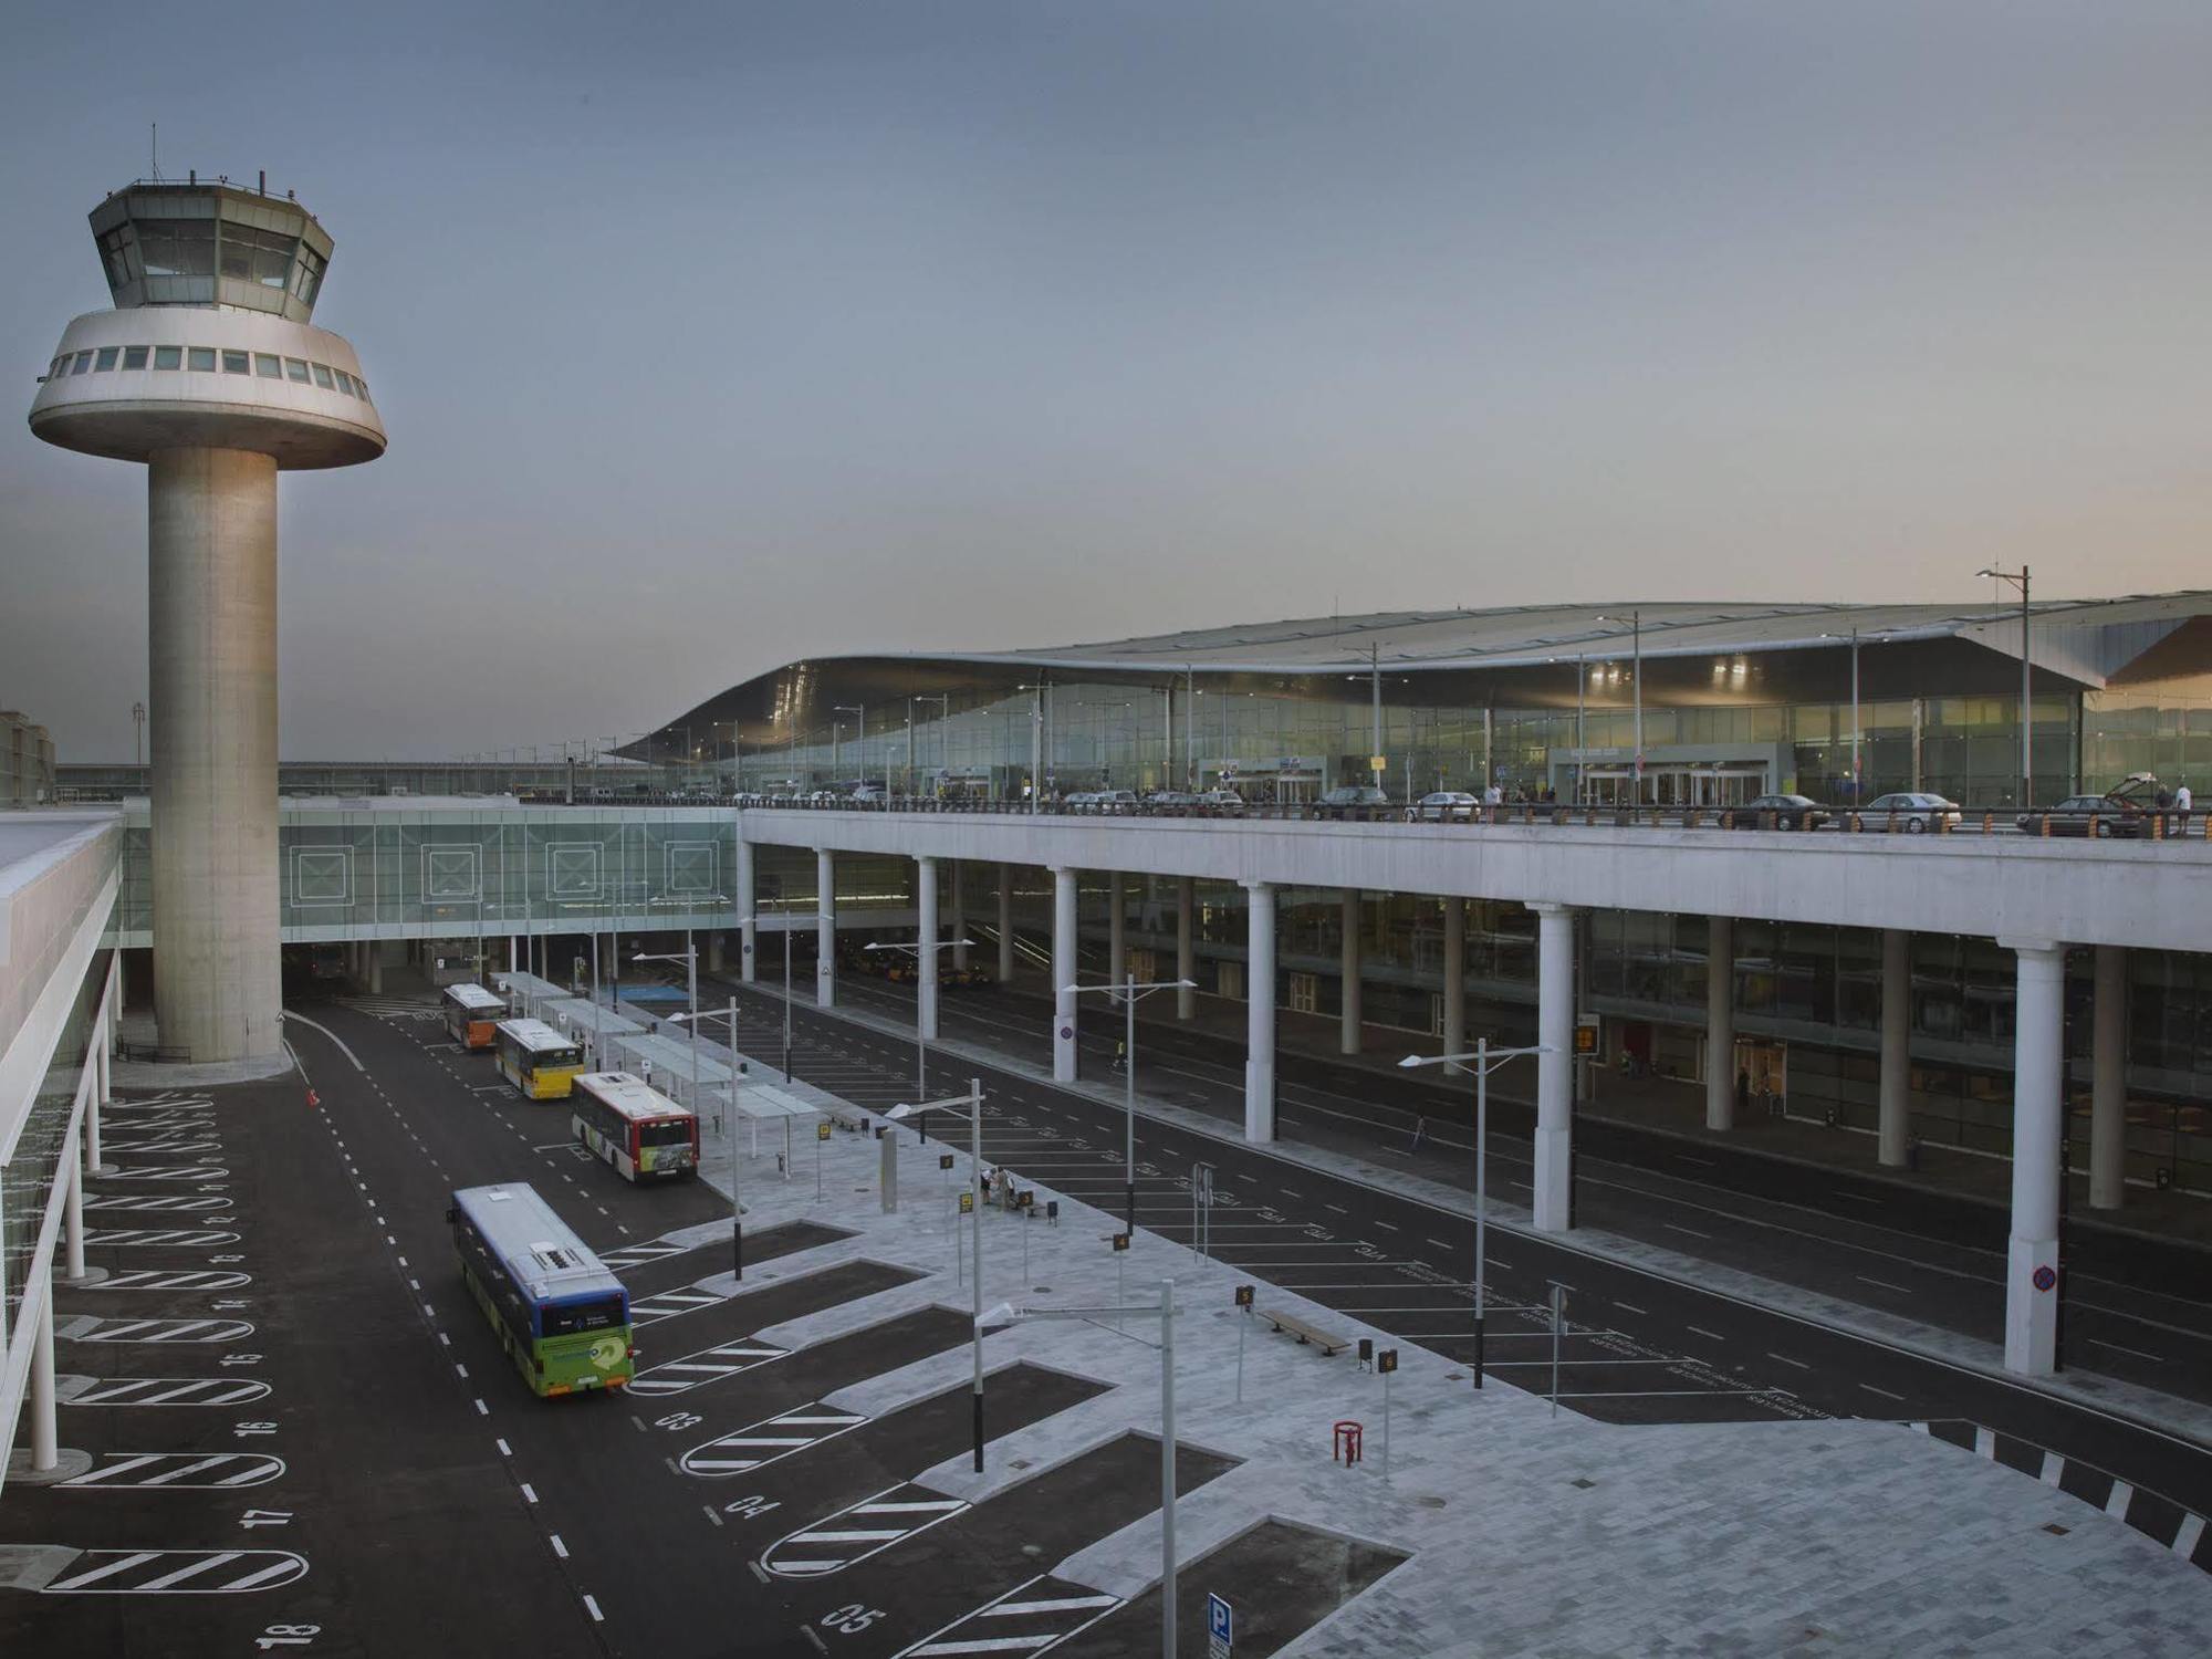
M841 995L854 991L883 1002L889 987L841 984ZM768 987L728 982L717 982L714 993L741 998L748 1053L774 1055L781 998ZM960 1009L951 995L940 1006L947 1031L958 1035L969 1035L960 1022L989 1018ZM914 1097L909 1040L807 1004L794 1009L794 1068L805 1082L876 1108ZM1000 1035L1009 1051L1026 1053L1013 1048L1013 1033ZM1119 1110L1026 1073L971 1062L933 1060L929 1086L956 1093L971 1073L982 1077L991 1102L989 1159L1044 1190L1119 1208ZM1473 1358L1473 1223L1458 1212L1321 1175L1230 1135L1144 1117L1137 1159L1141 1228L1192 1243L1192 1166L1210 1164L1217 1201L1203 1221L1214 1259L1462 1363ZM2212 1509L2212 1449L2199 1442L1495 1225L1484 1272L1493 1376L1551 1391L1555 1283L1568 1290L1571 1327L1559 1349L1559 1398L1593 1418L1964 1418L2130 1482L2141 1517L2154 1522L2146 1528L2152 1535L2161 1526L2166 1540L2174 1535L2179 1506ZM2170 1517L2161 1498L2177 1504ZM2199 1555L2212 1559L2212 1542Z

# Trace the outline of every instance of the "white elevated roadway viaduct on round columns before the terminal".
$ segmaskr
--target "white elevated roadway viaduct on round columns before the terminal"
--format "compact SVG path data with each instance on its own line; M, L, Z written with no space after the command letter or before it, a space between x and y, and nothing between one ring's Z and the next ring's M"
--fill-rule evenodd
M1701 827L1575 823L1316 823L1287 818L1144 818L1029 812L823 812L748 807L739 814L739 927L745 978L754 969L752 847L812 847L823 894L838 854L907 856L922 863L920 938L938 938L936 860L1033 865L1053 872L1053 1075L1075 1077L1075 878L1106 869L1177 878L1179 978L1190 978L1192 883L1239 883L1250 894L1248 960L1276 958L1274 896L1283 887L1431 894L1526 905L1537 916L1537 1126L1533 1223L1573 1225L1573 1033L1575 911L1644 909L1714 918L1728 949L1736 918L1880 929L1882 951L1882 1161L1907 1157L1907 942L1913 931L1984 936L2015 953L2013 1192L2006 1270L2004 1354L2013 1371L2046 1376L2055 1365L2059 1183L2064 1159L2064 951L2099 949L2097 1064L2090 1113L2090 1186L2117 1186L2121 1137L2119 960L2128 947L2203 949L2212 843L2046 841L2031 836L1721 834ZM818 916L816 1000L836 1000L836 916ZM1000 887L1006 905L1006 887ZM1447 907L1447 927L1458 907ZM1000 951L1011 927L1002 916ZM1444 951L1447 1022L1460 1018L1460 951ZM1002 975L1009 964L1002 960ZM1358 962L1347 953L1347 984ZM2110 971L2108 971L2110 969ZM1725 1044L1732 975L1710 975L1708 1026ZM918 1020L936 1035L931 975L922 975ZM1274 1139L1274 998L1248 998L1248 1141ZM1352 1015L1356 1018L1356 1015ZM1464 1031L1444 1031L1447 1053ZM1717 1048L1725 1053L1728 1048ZM1734 1097L1719 1068L1708 1121L1728 1128Z

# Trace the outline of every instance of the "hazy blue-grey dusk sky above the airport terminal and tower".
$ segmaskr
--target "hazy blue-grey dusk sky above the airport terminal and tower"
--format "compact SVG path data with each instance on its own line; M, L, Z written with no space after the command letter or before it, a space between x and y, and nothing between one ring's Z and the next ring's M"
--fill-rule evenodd
M281 487L288 759L801 655L1332 611L2208 586L2212 7L42 7L84 215L296 190L383 460ZM0 434L0 706L128 759L144 469Z

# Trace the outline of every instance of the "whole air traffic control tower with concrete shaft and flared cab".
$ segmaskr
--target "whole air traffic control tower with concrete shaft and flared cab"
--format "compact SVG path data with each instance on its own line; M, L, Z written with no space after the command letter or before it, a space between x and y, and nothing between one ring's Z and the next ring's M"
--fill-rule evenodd
M31 431L146 478L155 1018L195 1062L281 1046L276 473L385 451L354 347L314 327L330 237L290 197L139 181L93 208L115 299Z

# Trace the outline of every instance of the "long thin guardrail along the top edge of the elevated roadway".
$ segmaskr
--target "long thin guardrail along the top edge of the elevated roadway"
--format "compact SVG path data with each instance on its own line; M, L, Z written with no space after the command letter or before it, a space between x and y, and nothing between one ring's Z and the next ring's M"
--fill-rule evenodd
M1517 801L1473 807L1327 807L1321 803L1150 803L1150 801L936 801L929 796L889 796L883 801L834 799L761 799L739 801L739 810L768 812L920 812L920 814L1011 814L1044 818L1223 818L1263 823L1449 823L1484 825L1579 825L1617 830L1767 830L1767 832L1836 832L1889 836L2037 836L2093 841L2212 841L2212 812L1854 812L1849 807L1807 807L1803 812L1745 812L1743 807L1597 807L1566 801Z

